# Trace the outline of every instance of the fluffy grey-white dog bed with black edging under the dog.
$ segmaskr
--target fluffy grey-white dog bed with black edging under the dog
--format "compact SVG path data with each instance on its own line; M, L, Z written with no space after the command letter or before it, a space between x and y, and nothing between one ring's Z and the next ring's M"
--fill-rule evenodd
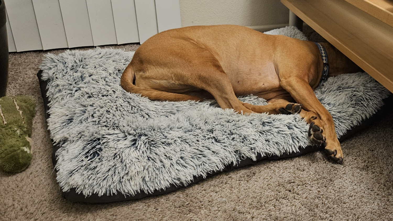
M294 27L268 32L305 40ZM38 73L54 144L53 163L69 201L105 203L172 192L262 159L294 157L310 146L296 115L222 110L215 100L151 101L124 91L133 52L115 49L48 54ZM390 92L366 73L329 78L315 91L339 138L376 113ZM243 102L264 105L253 95Z

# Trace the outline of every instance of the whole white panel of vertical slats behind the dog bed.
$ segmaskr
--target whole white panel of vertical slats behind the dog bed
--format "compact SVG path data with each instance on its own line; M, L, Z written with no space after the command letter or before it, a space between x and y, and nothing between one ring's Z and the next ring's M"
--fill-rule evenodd
M143 43L181 27L179 0L4 0L9 51Z

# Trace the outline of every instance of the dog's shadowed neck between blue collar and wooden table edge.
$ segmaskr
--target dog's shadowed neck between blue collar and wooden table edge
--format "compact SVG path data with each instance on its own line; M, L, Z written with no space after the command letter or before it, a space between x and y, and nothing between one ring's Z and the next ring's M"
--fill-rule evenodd
M329 58L329 77L345 73L356 73L363 71L351 59L347 58L341 51L328 42L320 42L325 47Z

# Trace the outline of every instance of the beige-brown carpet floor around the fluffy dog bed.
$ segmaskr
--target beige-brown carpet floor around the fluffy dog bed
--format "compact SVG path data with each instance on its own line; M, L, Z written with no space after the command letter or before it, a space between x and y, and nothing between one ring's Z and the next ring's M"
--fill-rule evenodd
M130 51L138 45L112 47ZM343 165L315 152L223 172L166 195L109 204L70 203L56 183L36 77L47 52L10 54L7 95L30 95L38 104L31 165L15 175L0 172L0 220L393 220L389 113L342 143Z

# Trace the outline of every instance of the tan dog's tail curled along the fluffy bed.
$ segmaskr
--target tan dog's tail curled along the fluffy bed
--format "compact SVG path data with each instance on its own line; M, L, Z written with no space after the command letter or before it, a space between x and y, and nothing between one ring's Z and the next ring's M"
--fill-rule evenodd
M161 101L184 101L184 100L196 100L201 101L199 97L178 94L178 93L170 93L166 91L158 91L150 88L140 88L134 84L135 81L135 72L132 66L127 66L121 75L120 84L123 89L130 93L138 93L141 94L142 97L148 97L150 100L161 100Z

